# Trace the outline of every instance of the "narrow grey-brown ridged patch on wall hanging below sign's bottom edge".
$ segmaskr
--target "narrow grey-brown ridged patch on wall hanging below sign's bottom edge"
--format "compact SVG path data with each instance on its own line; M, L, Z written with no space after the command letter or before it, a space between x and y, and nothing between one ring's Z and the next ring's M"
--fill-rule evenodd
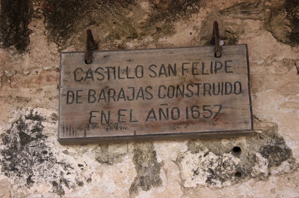
M152 142L135 143L133 161L137 176L129 189L130 197L138 195L140 190L148 191L162 185L160 169L164 162L158 163Z

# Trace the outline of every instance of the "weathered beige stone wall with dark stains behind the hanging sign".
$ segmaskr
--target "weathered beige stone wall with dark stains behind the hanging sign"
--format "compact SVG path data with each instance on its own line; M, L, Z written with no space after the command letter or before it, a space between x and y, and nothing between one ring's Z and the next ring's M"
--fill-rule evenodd
M0 0L0 197L299 197L298 0ZM254 135L61 146L60 52L248 44ZM239 147L241 152L233 150Z

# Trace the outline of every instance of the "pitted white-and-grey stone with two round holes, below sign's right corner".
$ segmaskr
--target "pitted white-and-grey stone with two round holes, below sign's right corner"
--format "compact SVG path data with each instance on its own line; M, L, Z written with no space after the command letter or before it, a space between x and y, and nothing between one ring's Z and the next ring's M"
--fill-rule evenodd
M277 174L298 168L291 149L277 134L277 126L256 125L255 130L258 132L251 138L189 141L188 151L180 153L177 159L184 187L199 184L222 188L251 178L265 179L273 174L274 167L283 166ZM234 155L235 146L242 150L238 157Z

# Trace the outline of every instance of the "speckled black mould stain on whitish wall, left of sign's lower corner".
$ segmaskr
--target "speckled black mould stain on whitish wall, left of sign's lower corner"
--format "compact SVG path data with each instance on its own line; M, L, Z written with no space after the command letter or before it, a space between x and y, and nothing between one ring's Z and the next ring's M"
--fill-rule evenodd
M30 115L29 115L30 116ZM35 116L37 118L37 116ZM40 116L38 119L42 119ZM49 148L43 143L47 136L42 134L43 125L40 121L28 123L25 118L18 119L10 130L1 134L4 149L0 151L3 156L1 171L7 176L17 176L27 180L28 187L34 183L35 168L45 169L45 161L55 163L52 152L42 153ZM48 164L49 165L49 164Z

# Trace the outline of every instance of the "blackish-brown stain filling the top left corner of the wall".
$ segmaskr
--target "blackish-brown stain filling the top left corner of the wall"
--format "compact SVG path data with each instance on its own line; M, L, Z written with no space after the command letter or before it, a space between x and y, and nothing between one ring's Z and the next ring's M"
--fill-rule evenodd
M24 52L30 43L31 0L1 0L0 4L0 46L15 46L18 51Z

